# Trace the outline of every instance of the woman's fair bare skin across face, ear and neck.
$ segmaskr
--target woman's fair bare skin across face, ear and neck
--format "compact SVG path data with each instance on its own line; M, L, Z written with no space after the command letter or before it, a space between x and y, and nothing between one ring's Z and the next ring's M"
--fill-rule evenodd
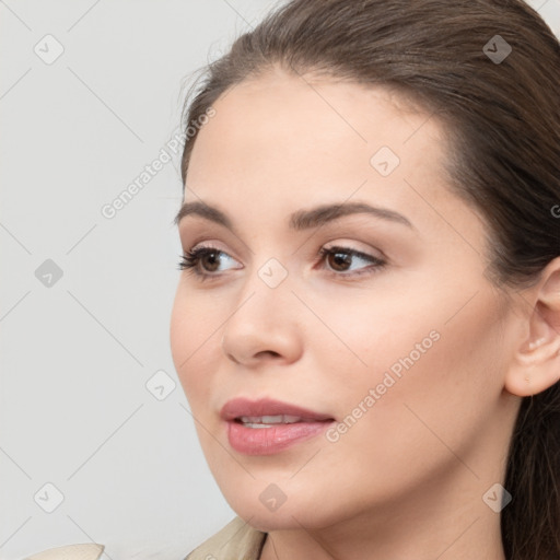
M560 264L504 298L485 275L483 221L450 189L441 125L385 89L275 69L214 109L185 201L220 208L235 234L180 221L184 250L226 256L214 278L182 272L171 343L221 491L268 532L261 558L504 559L482 497L503 481L520 397L558 380ZM400 159L385 177L370 163L384 145ZM368 214L288 228L294 211L358 200L413 228ZM352 257L332 268L318 256L332 245L386 266ZM288 271L276 288L258 276L270 258ZM431 331L438 341L338 441L268 456L230 446L219 417L229 399L271 397L342 421ZM270 483L287 498L273 512L259 500Z

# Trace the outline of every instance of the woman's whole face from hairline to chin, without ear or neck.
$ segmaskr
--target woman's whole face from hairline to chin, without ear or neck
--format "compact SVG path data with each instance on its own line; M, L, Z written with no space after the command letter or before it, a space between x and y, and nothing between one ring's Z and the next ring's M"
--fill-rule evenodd
M173 359L218 485L264 530L486 508L501 479L512 312L442 129L397 101L275 71L222 96L191 154L184 201L215 210L185 209L180 241L214 252L182 272Z

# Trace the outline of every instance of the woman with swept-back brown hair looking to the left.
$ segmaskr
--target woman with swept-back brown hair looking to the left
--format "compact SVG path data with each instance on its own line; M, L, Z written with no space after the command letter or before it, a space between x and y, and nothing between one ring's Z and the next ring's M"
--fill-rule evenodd
M188 559L560 558L559 92L521 0L294 0L210 66L171 342L237 517Z

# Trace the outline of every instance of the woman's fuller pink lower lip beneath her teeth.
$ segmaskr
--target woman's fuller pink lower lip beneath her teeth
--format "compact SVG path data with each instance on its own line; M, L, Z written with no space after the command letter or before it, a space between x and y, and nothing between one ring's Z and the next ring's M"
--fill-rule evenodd
M245 455L272 455L303 440L324 432L332 421L272 424L271 428L247 428L240 422L228 422L230 445Z

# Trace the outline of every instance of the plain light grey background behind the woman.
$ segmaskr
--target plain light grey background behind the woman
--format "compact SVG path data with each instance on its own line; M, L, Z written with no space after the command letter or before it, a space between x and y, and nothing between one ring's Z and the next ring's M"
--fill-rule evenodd
M279 3L0 0L0 559L180 559L235 515L168 345L179 152L101 210L174 155L184 79ZM530 3L560 34L560 0Z

